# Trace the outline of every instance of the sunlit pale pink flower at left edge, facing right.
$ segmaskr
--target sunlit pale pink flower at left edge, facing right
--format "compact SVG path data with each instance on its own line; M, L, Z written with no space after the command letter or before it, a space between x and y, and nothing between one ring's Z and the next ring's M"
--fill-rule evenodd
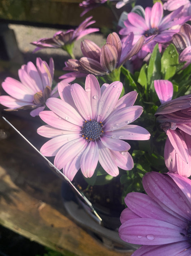
M7 77L2 83L3 89L10 95L0 96L0 104L8 107L6 111L35 108L30 115L38 116L45 108L46 100L58 96L57 86L52 90L53 59L50 59L48 66L46 61L37 58L36 66L28 62L18 71L20 81Z

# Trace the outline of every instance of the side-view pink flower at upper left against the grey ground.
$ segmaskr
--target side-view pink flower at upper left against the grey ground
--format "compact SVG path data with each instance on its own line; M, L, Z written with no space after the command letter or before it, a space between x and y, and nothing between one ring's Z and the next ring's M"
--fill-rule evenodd
M43 38L32 42L31 44L38 46L33 52L42 48L62 48L66 50L66 45L72 44L85 35L99 31L99 28L87 28L95 23L95 21L90 21L91 19L92 16L86 18L75 30L70 29L66 32L58 31L51 38Z

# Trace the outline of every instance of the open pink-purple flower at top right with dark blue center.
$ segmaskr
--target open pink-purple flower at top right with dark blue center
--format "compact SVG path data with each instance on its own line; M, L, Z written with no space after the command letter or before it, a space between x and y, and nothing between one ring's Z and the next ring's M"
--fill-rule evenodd
M119 34L127 36L130 32L133 32L133 44L142 35L147 40L152 39L154 36L151 42L147 44L147 48L149 45L152 47L152 49L147 49L151 52L154 47L153 41L155 44L157 42L162 44L171 41L172 36L180 30L180 28L173 29L173 26L182 25L191 18L191 16L178 16L182 8L183 6L163 17L163 6L157 2L152 8L145 8L144 18L137 13L129 13L128 19L124 21L125 28L122 28Z

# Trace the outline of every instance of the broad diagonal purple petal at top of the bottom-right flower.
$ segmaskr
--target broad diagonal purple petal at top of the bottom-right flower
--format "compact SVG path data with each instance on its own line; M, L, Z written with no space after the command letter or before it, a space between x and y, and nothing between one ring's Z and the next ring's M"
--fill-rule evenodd
M183 192L168 176L151 172L143 177L143 187L149 197L173 216L185 218L185 221L190 218L190 204L185 202Z

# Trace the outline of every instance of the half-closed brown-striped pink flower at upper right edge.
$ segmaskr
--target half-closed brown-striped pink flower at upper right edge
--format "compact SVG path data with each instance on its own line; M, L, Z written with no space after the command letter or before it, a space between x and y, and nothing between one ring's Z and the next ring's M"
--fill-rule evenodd
M191 63L191 26L187 23L183 24L180 32L173 35L172 42L180 53L179 61L186 61L183 66L186 68Z

